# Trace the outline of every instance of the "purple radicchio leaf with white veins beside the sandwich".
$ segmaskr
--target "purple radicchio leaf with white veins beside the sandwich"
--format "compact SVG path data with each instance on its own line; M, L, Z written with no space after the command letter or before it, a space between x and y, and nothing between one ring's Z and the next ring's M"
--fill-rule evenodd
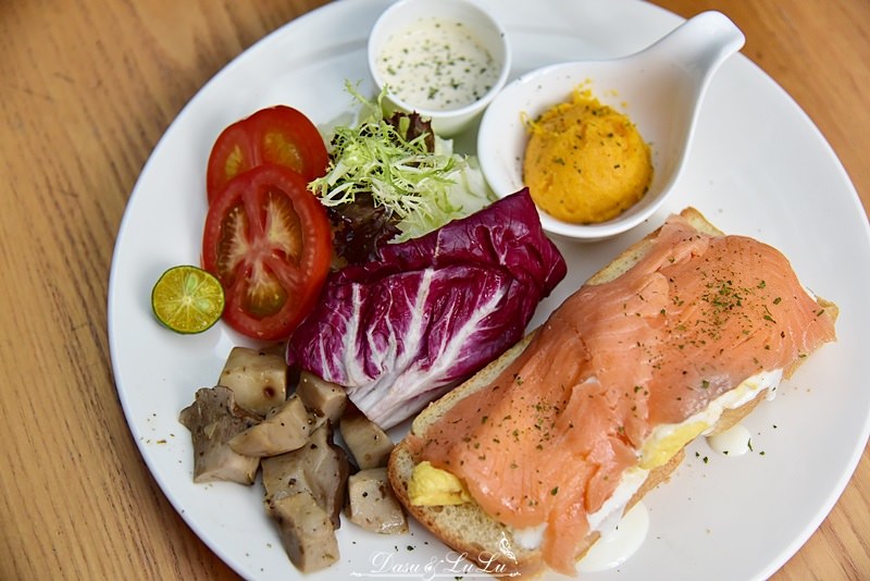
M331 274L287 362L390 428L522 338L566 272L523 189Z

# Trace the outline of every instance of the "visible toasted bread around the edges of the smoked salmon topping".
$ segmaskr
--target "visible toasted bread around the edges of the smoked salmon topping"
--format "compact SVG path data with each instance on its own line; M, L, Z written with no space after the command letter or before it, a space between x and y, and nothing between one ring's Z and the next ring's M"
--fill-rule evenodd
M698 210L688 207L684 209L682 215L695 230L712 236L724 235L719 228L713 226ZM654 244L654 239L659 228L649 233L644 238L629 247L610 263L596 272L586 284L602 284L612 281L636 264ZM836 318L836 306L825 299L817 298L821 308L829 309ZM498 359L492 361L474 376L459 385L457 388L447 393L440 399L430 404L414 419L409 435L422 435L428 425L437 421L457 401L468 395L485 387L495 379L506 367L510 364L529 345L537 330L532 331L515 345L506 350ZM801 360L803 361L803 360ZM799 364L799 363L798 363ZM786 376L791 375L796 366L786 370ZM712 433L720 433L738 423L743 418L750 413L756 406L763 399L759 394L747 404L734 408L725 409L717 424L712 428ZM624 511L627 511L638 503L649 491L659 484L667 482L676 467L685 456L685 448L675 454L667 463L655 468L647 474L646 481L629 500ZM415 506L412 505L408 495L408 484L414 468L414 459L409 446L409 438L406 437L393 450L389 458L388 475L390 484L406 509L426 529L439 537L445 544L455 551L464 554L468 558L476 560L481 566L487 566L489 570L497 564L501 572L520 572L524 576L534 576L544 570L544 563L540 551L523 548L512 536L510 527L497 522L486 515L475 503L465 503L455 506ZM485 539L470 536L467 529L458 529L457 522L482 523L487 530ZM512 549L513 559L509 559L499 551L499 541L506 536L508 545ZM478 535L480 536L480 535ZM598 540L599 533L593 532L587 536L582 546L579 547L576 555L580 560L588 548Z

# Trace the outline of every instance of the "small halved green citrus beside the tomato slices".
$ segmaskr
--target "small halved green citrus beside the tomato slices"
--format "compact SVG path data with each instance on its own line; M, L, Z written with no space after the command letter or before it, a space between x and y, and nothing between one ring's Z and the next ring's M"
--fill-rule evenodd
M176 333L202 333L221 318L224 289L216 277L198 267L173 267L154 283L151 309Z

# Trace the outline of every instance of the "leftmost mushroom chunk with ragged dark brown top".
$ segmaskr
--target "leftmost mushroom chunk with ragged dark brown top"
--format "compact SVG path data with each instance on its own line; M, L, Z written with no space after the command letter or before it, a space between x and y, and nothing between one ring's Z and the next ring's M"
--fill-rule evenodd
M237 406L228 387L197 390L194 403L178 417L194 441L194 482L253 484L260 459L236 453L229 447L229 440L260 419Z

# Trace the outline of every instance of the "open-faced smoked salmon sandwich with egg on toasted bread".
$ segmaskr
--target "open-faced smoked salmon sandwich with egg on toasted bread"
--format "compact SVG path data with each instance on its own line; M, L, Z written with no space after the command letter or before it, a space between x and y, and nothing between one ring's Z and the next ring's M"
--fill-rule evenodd
M684 210L424 409L390 482L470 558L573 573L686 444L739 421L834 341L836 316L781 252Z

